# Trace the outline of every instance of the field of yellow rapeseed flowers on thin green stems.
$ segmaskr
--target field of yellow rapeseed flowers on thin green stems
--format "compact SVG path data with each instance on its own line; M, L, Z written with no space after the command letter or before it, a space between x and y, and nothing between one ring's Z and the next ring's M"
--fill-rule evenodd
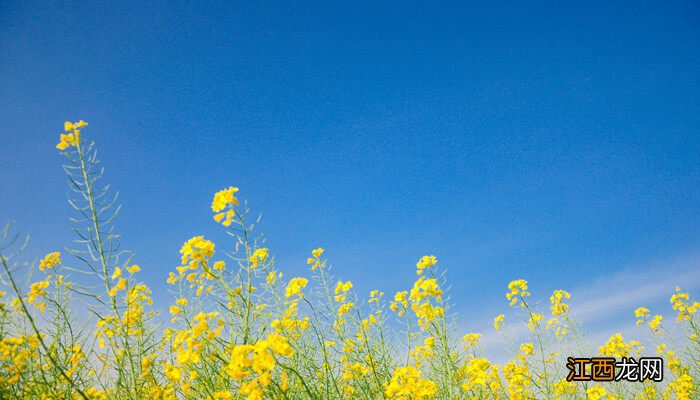
M435 256L407 268L415 283L398 293L356 293L322 248L309 249L300 276L283 276L236 187L211 203L233 240L223 248L204 236L186 240L180 265L163 276L171 305L156 310L137 260L119 246L119 208L86 127L66 122L56 146L66 157L75 248L46 249L29 269L22 241L9 227L3 233L0 399L700 398L700 304L680 288L669 293L675 321L642 305L630 310L640 336L656 341L643 348L620 334L589 343L568 292L554 291L538 309L528 282L514 280L504 288L511 312L493 320L511 360L496 365L479 333L457 331ZM518 325L527 340L511 335ZM659 356L664 380L570 382L571 355Z

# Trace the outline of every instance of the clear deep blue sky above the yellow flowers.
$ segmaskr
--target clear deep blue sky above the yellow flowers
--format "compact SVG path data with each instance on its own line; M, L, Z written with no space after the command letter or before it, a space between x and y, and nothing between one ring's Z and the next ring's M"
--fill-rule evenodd
M29 258L70 245L54 145L85 119L161 306L182 242L226 248L229 185L287 276L323 246L393 293L436 255L464 330L516 278L600 335L700 287L697 2L117 3L0 2L0 220Z

